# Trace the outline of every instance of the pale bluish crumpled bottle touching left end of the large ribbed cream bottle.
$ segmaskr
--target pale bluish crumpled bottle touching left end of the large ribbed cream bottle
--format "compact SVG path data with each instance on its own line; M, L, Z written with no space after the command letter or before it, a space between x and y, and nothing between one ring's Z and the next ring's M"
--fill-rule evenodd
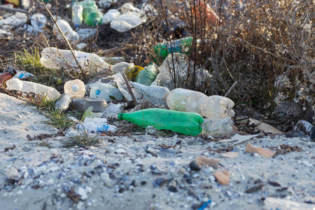
M132 83L130 85L134 87L134 90L144 97L144 99L150 101L155 105L166 105L166 102L163 100L166 94L169 94L169 88L162 86L146 86L140 83Z

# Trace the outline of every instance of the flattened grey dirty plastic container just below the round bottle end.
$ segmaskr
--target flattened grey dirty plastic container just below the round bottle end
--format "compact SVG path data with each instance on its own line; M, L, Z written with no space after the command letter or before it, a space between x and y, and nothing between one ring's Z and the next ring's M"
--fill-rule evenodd
M76 111L86 111L90 106L92 106L92 111L104 111L108 106L104 99L92 97L76 97L72 99L71 104Z

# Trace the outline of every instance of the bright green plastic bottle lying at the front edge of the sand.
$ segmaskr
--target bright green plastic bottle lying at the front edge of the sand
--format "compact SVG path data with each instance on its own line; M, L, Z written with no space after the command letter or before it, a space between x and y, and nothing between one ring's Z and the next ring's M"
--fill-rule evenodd
M158 130L172 130L189 136L202 132L204 118L197 113L172 111L168 109L143 109L134 113L119 113L118 120L127 120L140 127L149 125Z

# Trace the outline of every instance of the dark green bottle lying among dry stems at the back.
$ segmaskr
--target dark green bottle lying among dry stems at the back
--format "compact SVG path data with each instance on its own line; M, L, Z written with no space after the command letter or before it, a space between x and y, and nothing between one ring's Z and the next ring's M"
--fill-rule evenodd
M155 57L153 57L153 61L159 64L160 60L164 60L167 55L172 52L181 52L181 53L190 53L191 45L193 44L193 37L188 36L186 38L176 39L171 41L171 43L158 43L153 46L153 50L155 53Z

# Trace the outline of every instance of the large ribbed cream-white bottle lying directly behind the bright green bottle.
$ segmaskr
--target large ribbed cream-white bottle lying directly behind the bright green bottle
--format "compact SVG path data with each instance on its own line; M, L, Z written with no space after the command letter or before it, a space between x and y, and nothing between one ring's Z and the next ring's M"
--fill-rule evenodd
M176 88L166 96L169 109L199 113L205 118L235 116L231 99L218 95L207 96L202 92Z

